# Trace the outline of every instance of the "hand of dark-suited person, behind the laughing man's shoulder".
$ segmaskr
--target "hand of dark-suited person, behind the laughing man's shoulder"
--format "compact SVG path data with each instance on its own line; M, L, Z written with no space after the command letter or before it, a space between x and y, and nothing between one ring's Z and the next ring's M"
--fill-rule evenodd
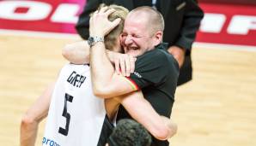
M179 67L181 67L183 65L184 59L185 59L185 49L182 49L178 46L171 46L168 48L168 52L171 55L174 55L174 58L176 59L176 61L178 61L179 63Z

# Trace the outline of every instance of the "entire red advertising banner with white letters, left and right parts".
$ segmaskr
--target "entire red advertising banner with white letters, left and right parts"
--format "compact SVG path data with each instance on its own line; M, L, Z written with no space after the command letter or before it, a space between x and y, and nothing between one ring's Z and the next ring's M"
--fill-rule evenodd
M0 0L0 29L76 33L83 0ZM256 46L256 6L200 3L204 9L197 42ZM1 33L1 32L0 32Z

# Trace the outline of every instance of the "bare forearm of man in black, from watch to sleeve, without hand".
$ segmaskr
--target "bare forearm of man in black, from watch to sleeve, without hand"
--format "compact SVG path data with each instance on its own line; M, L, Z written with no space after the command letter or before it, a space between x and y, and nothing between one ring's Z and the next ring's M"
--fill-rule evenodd
M90 68L95 96L108 98L137 91L137 86L129 79L115 73L113 65L107 58L105 45L101 42L91 49Z

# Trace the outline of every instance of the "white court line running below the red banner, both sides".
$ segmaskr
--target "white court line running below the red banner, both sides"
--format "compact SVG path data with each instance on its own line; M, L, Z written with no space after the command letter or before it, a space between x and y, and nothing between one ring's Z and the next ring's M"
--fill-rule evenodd
M58 38L58 39L74 39L82 40L78 34L71 33L58 33L58 32L33 32L33 31L18 31L18 30L5 30L0 29L0 35L9 36L25 36L34 38ZM205 49L220 49L220 50L243 50L243 51L256 51L256 46L250 45L237 45L237 44L215 44L215 43L201 43L195 42L193 48Z

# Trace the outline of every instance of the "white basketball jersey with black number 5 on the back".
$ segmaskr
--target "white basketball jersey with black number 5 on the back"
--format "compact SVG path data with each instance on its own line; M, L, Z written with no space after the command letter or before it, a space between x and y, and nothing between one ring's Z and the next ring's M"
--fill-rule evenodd
M88 65L65 65L59 73L46 121L43 145L96 146L106 110L94 96Z

